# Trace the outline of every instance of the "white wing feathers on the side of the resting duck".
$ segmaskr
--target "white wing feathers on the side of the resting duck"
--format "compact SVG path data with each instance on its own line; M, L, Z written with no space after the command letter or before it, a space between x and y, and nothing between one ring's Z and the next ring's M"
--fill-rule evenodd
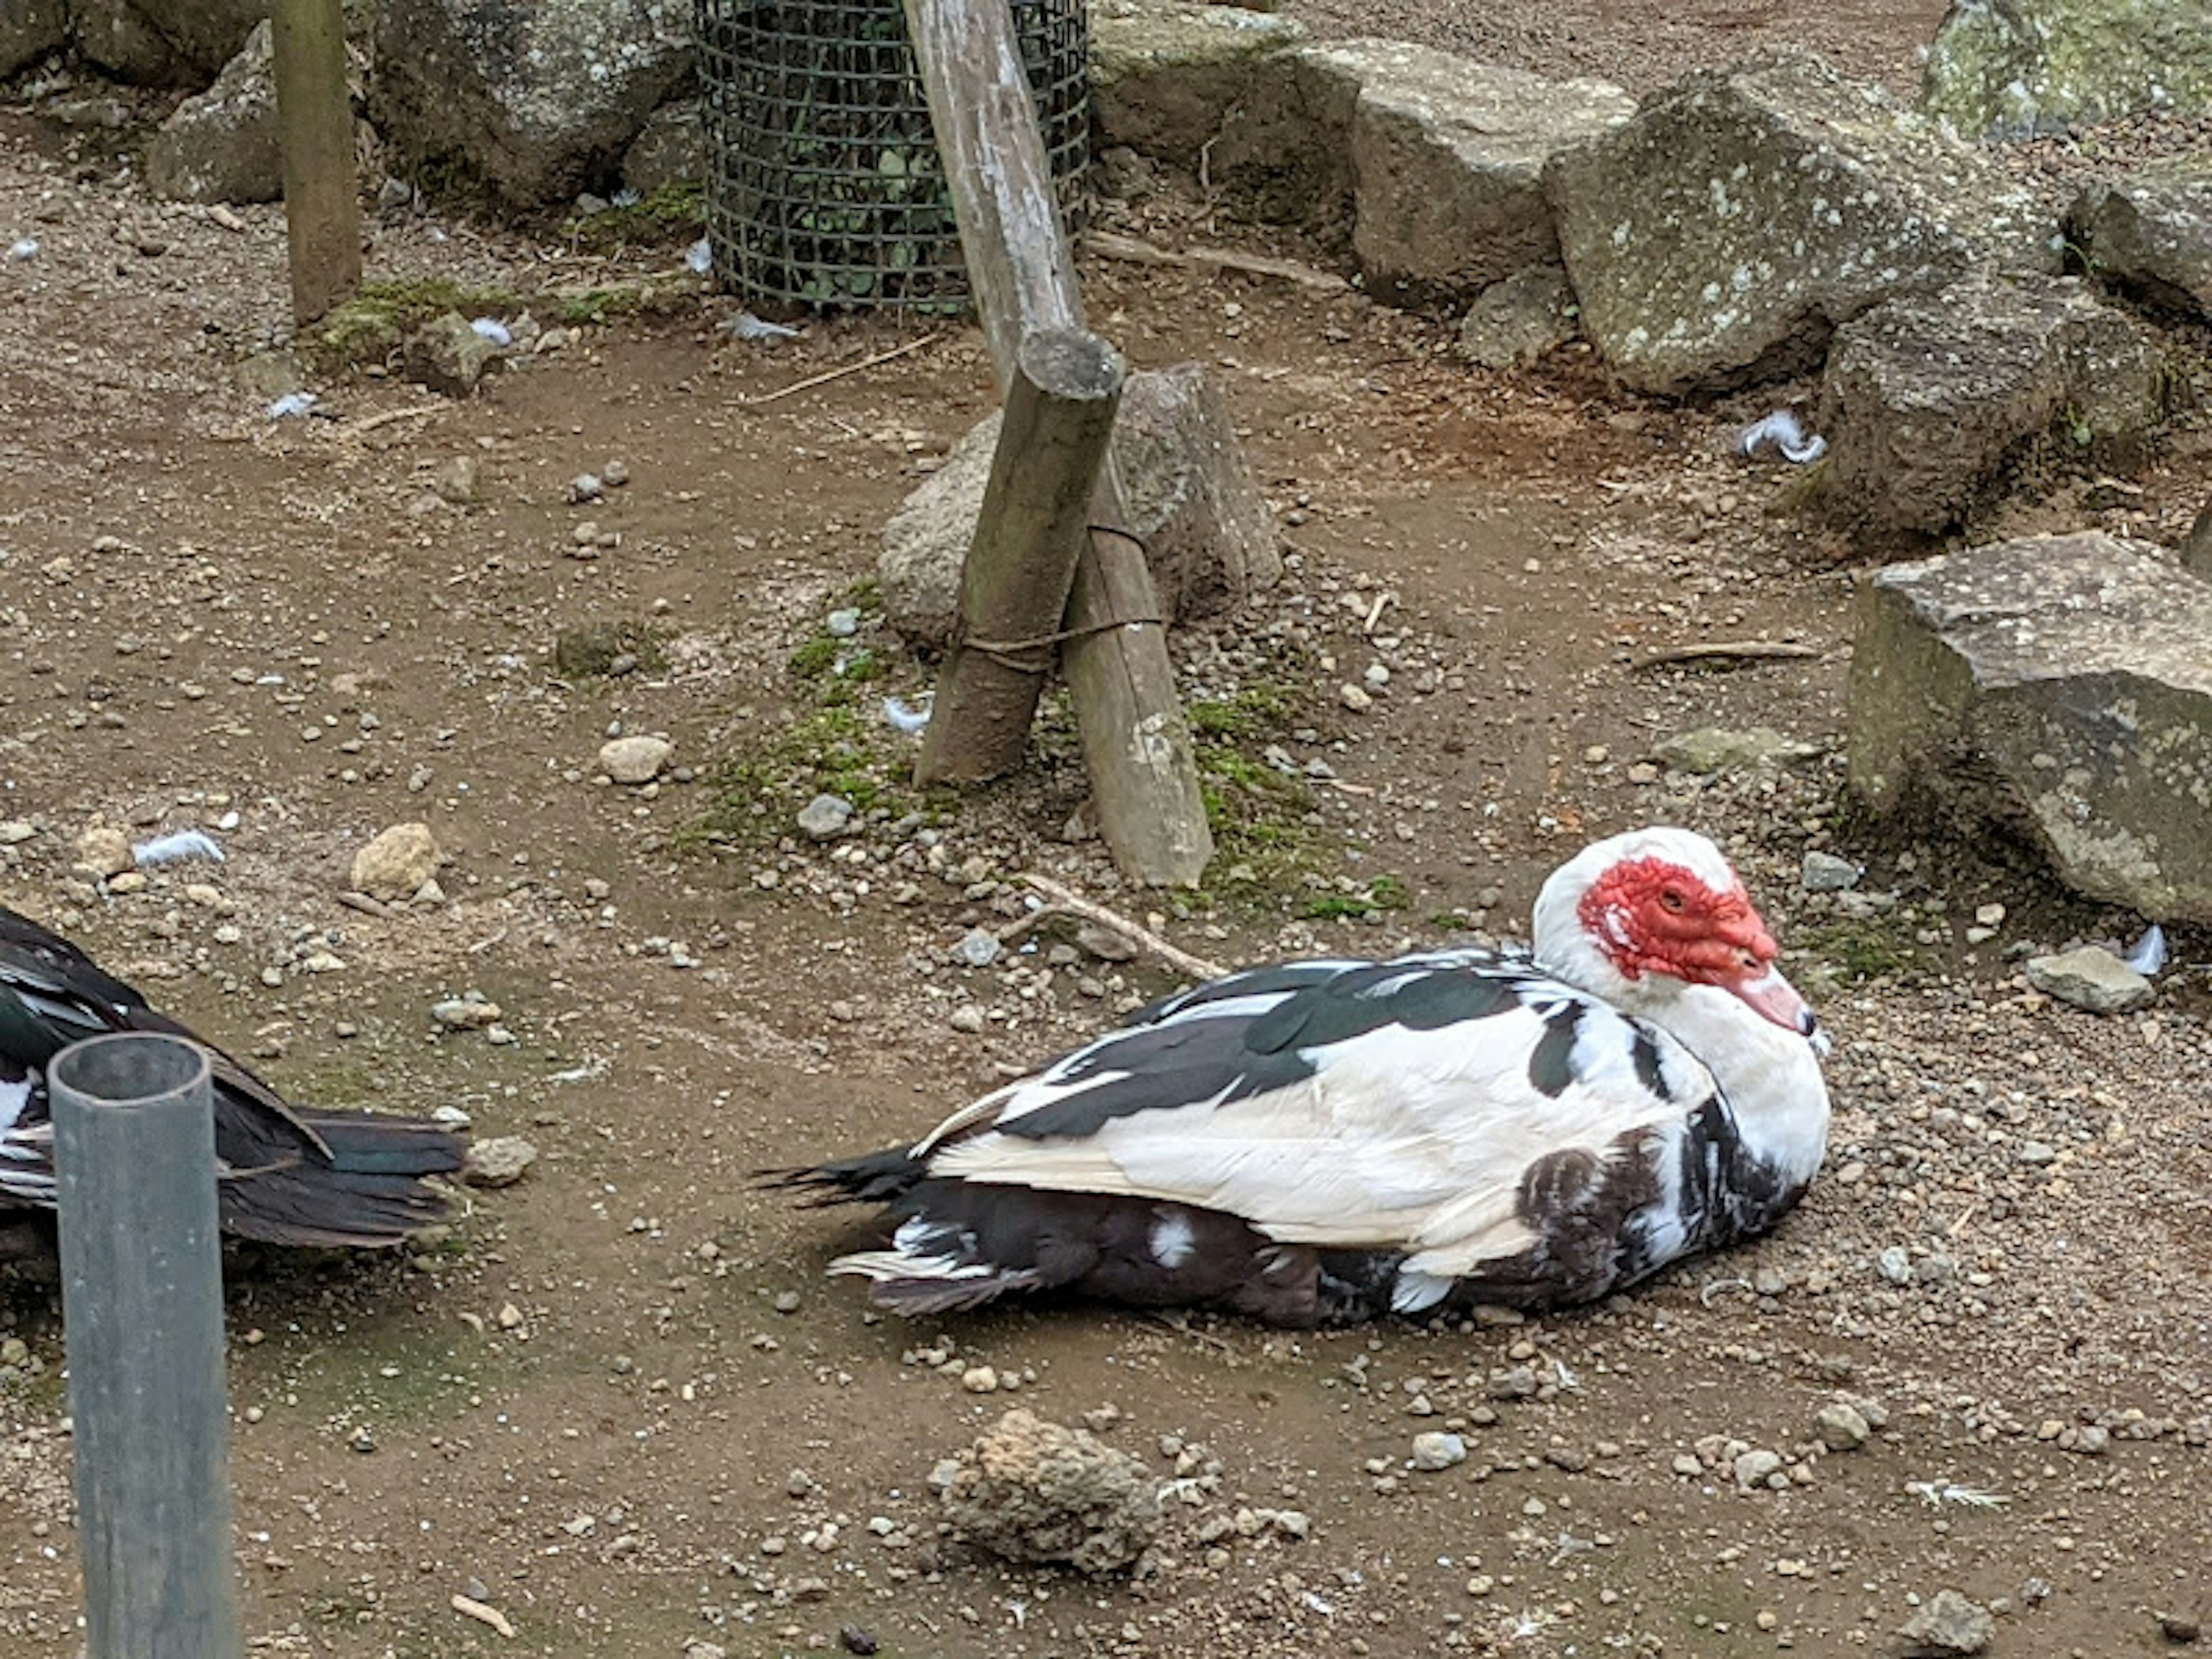
M1535 1009L1440 1031L1385 1026L1314 1053L1316 1075L1290 1088L1139 1110L1082 1139L982 1133L945 1146L931 1175L1225 1210L1283 1243L1409 1248L1409 1270L1460 1274L1533 1243L1517 1190L1535 1159L1604 1157L1626 1130L1679 1121L1712 1084L1661 1035L1677 1099L1659 1099L1635 1075L1628 1022L1590 1004L1577 1079L1551 1097L1528 1082L1542 1035ZM1082 1091L1048 1077L1011 1104L1035 1110Z

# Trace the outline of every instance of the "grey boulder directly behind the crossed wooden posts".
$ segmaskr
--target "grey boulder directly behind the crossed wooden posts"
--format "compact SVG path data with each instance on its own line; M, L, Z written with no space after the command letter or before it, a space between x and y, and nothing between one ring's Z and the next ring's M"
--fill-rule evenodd
M1000 416L984 418L883 526L885 619L907 639L951 644L960 564L982 511ZM1199 363L1141 372L1121 392L1113 453L1130 529L1177 622L1232 611L1283 571L1274 513L1237 442L1219 385Z

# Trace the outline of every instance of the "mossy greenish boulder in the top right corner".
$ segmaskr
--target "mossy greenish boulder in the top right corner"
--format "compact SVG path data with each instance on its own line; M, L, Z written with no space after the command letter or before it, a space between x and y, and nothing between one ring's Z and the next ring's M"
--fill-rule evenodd
M1920 106L1969 137L2212 115L2212 2L1953 0Z

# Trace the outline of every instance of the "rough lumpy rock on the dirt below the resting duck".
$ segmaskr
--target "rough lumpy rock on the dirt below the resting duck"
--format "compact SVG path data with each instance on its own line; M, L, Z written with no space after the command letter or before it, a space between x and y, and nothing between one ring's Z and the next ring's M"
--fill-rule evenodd
M1159 1535L1159 1480L1088 1429L1009 1411L942 1486L945 1517L1011 1562L1135 1564Z

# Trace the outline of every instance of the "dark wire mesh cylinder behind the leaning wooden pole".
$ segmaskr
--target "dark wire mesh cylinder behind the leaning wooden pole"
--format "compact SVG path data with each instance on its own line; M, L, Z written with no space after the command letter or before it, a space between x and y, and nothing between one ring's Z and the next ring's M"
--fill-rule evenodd
M1086 217L1084 0L1013 0L1053 188ZM770 307L962 310L945 168L898 0L699 0L714 281Z

